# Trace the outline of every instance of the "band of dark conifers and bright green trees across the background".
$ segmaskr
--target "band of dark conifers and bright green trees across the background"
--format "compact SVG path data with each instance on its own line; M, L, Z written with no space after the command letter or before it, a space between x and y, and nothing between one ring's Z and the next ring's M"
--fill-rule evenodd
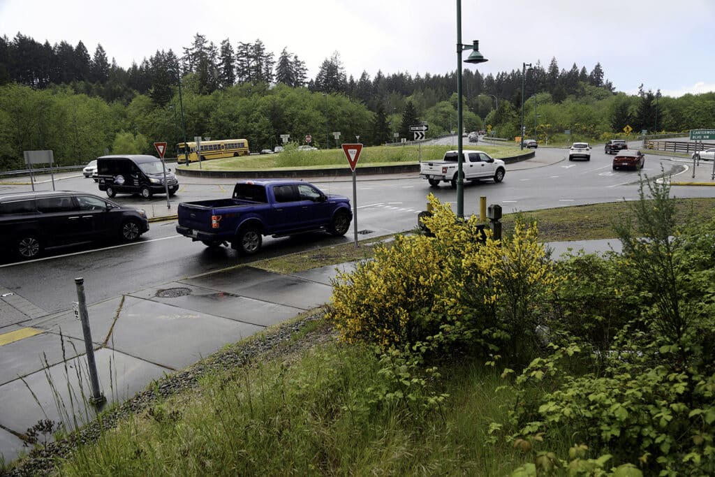
M1 36L0 167L21 166L28 149L54 149L67 164L126 153L128 144L153 153L155 140L182 140L182 113L187 137L245 137L253 151L275 147L280 134L296 142L311 134L319 147L337 146L332 132L366 144L400 141L411 139L415 122L428 122L428 134L438 136L457 127L455 89L456 72L363 72L355 79L337 51L308 78L297 54L286 47L276 60L260 39L217 46L197 34L181 56L157 51L125 70L108 61L101 44L90 55L82 41L52 46ZM576 64L559 69L556 58L525 72L465 69L463 94L466 130L508 139L520 134L522 107L526 135L551 142L607 139L626 125L657 132L715 124L715 94L614 92L598 63L591 72Z

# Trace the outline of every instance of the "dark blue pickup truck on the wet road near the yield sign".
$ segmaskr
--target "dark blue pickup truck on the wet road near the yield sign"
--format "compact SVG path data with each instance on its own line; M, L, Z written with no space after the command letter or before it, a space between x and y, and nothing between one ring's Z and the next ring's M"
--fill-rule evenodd
M242 180L230 199L182 202L177 212L179 234L208 247L231 244L245 255L260 250L263 235L325 230L340 236L352 222L347 197L297 180Z

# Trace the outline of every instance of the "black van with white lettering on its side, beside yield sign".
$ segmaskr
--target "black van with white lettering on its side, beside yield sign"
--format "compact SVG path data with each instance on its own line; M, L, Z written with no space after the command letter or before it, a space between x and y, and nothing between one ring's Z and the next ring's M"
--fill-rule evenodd
M154 194L165 194L168 186L169 197L172 197L179 190L179 181L172 169L164 168L161 159L144 154L97 157L99 190L107 192L109 197L141 194L149 199Z

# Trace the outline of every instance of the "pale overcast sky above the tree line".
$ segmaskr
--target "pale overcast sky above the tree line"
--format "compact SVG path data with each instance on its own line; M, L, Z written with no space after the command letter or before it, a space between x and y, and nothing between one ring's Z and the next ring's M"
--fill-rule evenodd
M457 67L456 0L0 0L0 34L18 32L81 40L90 55L102 44L125 69L157 50L181 56L197 33L217 46L260 39L275 59L287 47L310 78L333 51L356 80ZM556 57L567 70L600 62L628 94L715 91L715 0L462 0L462 43L473 40L489 61L465 67L484 75Z

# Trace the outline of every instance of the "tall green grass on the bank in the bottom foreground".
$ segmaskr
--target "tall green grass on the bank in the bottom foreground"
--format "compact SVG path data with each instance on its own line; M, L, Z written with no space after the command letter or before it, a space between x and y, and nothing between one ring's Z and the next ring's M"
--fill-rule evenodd
M522 465L488 431L513 406L490 369L450 368L441 412L375 399L388 385L379 370L367 348L330 343L213 373L79 448L59 472L506 475Z

